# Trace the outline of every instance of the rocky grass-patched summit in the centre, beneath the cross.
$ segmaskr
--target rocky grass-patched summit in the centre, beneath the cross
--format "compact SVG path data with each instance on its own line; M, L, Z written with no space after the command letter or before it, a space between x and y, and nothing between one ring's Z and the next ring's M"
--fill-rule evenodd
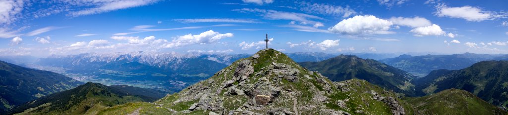
M98 114L410 114L411 108L364 80L331 82L264 49L153 103L128 103Z

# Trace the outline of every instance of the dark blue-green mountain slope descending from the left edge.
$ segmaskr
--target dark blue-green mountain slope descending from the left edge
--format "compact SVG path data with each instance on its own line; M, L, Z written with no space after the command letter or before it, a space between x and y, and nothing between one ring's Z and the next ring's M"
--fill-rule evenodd
M0 111L81 84L61 74L0 61Z

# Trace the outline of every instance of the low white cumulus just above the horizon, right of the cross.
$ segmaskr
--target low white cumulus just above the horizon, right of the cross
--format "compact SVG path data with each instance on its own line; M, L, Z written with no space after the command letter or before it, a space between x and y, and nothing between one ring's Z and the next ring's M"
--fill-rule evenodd
M288 42L287 44L291 47L297 47L297 46L303 46L304 48L320 48L321 50L327 50L328 48L339 46L340 40L324 40L321 43L315 43L311 40L308 40L306 42L301 43L291 43Z

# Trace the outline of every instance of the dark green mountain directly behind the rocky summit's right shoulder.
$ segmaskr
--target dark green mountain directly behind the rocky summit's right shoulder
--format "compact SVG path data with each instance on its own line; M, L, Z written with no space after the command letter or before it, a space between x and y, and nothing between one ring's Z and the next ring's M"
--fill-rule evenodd
M319 71L332 81L361 79L396 92L414 95L415 85L412 81L416 76L375 60L364 60L355 55L339 55L321 62L299 64L310 70Z

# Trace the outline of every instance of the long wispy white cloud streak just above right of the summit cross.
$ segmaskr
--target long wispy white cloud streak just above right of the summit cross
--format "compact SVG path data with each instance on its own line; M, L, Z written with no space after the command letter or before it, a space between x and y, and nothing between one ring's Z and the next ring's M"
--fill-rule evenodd
M241 13L259 13L262 17L270 20L291 20L291 21L297 21L302 25L311 24L314 25L316 23L321 23L317 21L312 20L324 20L321 17L312 16L308 14L301 14L301 13L292 13L292 12L280 12L280 11L274 11L274 10L261 10L261 9L237 9L233 10L236 12Z

